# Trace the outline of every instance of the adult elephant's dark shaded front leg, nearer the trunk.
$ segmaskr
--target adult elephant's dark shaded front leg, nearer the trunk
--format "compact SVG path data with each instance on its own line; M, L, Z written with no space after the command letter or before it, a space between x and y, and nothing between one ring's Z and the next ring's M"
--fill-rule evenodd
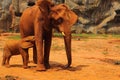
M46 34L44 41L44 65L47 69L50 68L49 55L50 55L51 41L52 41L52 31Z

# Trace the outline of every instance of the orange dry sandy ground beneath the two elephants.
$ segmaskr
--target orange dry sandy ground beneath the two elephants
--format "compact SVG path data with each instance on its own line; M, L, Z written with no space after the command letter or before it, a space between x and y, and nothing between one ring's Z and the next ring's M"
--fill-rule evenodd
M0 64L2 47L6 38L0 37ZM22 68L21 56L13 56L10 68L0 65L0 77L14 76L15 80L120 80L120 39L73 39L72 65L69 69L62 67L67 63L64 43L61 38L53 38L50 64L45 72L35 71L32 63L32 49L29 50L28 69ZM13 79L11 79L13 80Z

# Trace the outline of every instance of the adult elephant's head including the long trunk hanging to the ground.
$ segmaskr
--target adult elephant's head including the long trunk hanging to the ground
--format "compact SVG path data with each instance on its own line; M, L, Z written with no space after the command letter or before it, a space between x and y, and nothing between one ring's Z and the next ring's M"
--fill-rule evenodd
M64 35L66 54L69 67L71 65L71 27L77 21L77 15L65 4L59 4L51 8L51 24Z

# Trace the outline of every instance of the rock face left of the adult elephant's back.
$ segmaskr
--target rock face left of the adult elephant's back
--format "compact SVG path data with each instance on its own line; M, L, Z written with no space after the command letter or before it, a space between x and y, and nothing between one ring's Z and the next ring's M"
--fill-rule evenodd
M14 31L18 30L19 18L22 12L33 5L36 0L0 0L0 32ZM12 11L14 14L10 13L10 5L12 4ZM13 19L14 17L14 19Z

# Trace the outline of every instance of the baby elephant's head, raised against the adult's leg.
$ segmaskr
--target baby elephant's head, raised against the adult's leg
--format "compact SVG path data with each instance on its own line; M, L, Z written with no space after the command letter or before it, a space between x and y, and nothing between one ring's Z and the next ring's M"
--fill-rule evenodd
M25 37L21 40L20 47L23 48L23 49L28 49L30 47L33 47L34 46L34 41L35 41L34 36Z

